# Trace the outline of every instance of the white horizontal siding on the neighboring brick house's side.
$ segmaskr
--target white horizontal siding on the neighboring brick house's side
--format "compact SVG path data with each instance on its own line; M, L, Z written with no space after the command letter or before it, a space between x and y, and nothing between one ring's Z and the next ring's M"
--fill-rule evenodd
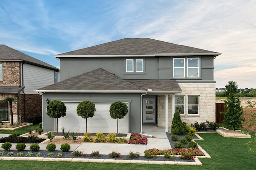
M54 70L31 64L23 64L23 66L25 94L37 94L34 90L54 84Z

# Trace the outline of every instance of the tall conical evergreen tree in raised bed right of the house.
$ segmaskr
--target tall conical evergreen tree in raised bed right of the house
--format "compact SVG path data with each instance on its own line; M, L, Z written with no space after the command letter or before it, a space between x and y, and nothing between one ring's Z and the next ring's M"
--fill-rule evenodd
M224 112L224 123L228 127L233 127L233 131L235 131L235 127L242 127L243 122L245 121L243 117L244 111L241 107L241 101L239 97L236 96L236 93L238 92L238 86L236 85L236 82L229 81L225 87L227 100L224 101L226 109Z

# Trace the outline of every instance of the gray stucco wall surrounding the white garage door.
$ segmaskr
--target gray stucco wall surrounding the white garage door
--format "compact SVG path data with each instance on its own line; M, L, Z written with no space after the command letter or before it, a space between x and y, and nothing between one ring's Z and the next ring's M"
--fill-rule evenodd
M129 129L130 133L140 133L141 113L140 113L140 94L100 94L100 93L45 93L43 94L43 129L53 131L54 119L46 114L46 99L60 100L62 102L128 102L129 109ZM56 125L56 123L55 123Z

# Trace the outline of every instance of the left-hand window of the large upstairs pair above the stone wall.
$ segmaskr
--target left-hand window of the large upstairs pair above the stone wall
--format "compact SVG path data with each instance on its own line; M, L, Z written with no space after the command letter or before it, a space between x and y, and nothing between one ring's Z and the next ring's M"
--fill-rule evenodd
M185 59L173 59L173 77L185 77Z

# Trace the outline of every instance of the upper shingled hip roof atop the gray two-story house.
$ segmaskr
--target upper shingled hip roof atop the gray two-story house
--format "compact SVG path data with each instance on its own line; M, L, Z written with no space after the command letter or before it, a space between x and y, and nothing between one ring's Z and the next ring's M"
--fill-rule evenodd
M70 51L56 55L155 55L155 54L178 54L178 53L209 53L219 55L213 51L207 51L184 45L177 45L150 38L125 38L109 43Z

